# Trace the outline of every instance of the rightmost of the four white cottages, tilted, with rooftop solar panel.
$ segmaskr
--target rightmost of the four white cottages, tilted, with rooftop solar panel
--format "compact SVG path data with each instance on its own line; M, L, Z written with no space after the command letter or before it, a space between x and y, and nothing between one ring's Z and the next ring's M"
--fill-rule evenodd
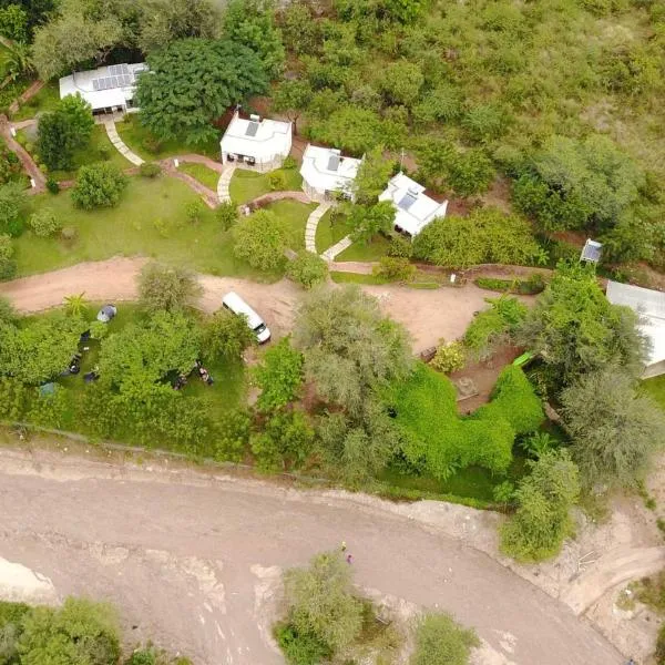
M379 201L391 201L396 209L395 231L416 237L428 224L446 217L448 201L438 203L424 193L424 187L398 173L379 195Z

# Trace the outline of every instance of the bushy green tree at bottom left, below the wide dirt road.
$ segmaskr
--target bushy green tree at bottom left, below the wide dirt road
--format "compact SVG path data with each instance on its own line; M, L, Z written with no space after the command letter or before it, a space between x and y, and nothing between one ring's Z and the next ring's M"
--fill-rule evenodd
M59 610L32 608L22 626L19 638L22 665L115 665L120 659L117 617L104 603L69 597Z

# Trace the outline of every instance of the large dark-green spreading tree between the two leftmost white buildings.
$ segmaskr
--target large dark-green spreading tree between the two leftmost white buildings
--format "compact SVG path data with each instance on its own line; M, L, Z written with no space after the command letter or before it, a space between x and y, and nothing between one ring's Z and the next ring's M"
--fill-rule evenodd
M161 139L190 143L215 139L211 122L234 104L266 91L259 58L229 40L183 39L147 57L150 74L139 78L141 121Z

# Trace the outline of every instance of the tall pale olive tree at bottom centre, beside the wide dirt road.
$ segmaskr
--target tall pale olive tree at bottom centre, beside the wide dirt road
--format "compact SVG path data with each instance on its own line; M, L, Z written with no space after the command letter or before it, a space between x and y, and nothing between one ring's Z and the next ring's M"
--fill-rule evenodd
M316 555L308 569L284 575L289 623L332 652L350 644L362 626L362 604L354 596L351 566L339 552Z

